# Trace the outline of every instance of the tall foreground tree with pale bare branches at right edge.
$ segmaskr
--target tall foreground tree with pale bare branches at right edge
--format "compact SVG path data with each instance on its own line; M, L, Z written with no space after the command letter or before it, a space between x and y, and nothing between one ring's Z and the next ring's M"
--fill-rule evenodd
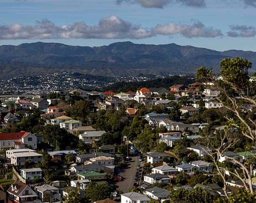
M226 112L224 115L217 115L225 119L226 126L223 131L213 135L213 131L208 131L204 135L202 142L211 149L212 153L208 155L216 165L217 172L223 179L224 193L227 196L226 175L225 170L221 170L217 165L217 161L223 152L243 148L240 143L249 143L250 146L256 146L256 125L255 116L244 110L244 106L250 104L253 108L256 107L256 102L253 96L255 95L255 87L249 81L248 70L252 67L252 62L243 58L226 58L220 62L220 76L222 79L216 79L213 76L211 69L201 67L197 70L196 78L214 84L214 88L219 89L221 94L218 98ZM205 112L205 111L204 111ZM202 115L203 117L203 115ZM234 131L236 128L238 131ZM245 149L244 149L245 150ZM233 178L243 182L243 186L247 192L254 194L252 183L252 169L254 163L240 163L236 159L231 158L236 165L226 166ZM247 180L246 182L244 180ZM227 196L228 201L232 198Z

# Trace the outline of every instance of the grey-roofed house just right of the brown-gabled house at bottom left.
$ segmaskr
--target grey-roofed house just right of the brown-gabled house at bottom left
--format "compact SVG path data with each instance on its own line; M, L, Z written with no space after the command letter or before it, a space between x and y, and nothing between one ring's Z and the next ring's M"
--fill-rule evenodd
M43 184L36 186L35 191L42 202L59 202L61 200L59 188Z

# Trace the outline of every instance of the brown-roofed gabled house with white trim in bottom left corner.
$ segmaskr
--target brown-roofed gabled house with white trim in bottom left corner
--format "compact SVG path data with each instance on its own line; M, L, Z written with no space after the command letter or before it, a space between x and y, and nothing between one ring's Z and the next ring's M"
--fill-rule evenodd
M37 194L26 184L16 180L7 190L9 202L41 202Z

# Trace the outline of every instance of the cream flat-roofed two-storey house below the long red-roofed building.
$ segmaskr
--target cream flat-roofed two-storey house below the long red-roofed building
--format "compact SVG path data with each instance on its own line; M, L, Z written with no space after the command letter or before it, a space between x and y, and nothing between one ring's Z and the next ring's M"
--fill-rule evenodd
M7 151L14 151L14 150L7 150ZM7 155L7 151L6 151L6 155ZM43 155L36 153L35 150L24 151L24 149L16 149L16 151L11 154L10 160L11 160L11 164L15 166L23 166L26 160L31 160L34 163L41 163L43 160Z

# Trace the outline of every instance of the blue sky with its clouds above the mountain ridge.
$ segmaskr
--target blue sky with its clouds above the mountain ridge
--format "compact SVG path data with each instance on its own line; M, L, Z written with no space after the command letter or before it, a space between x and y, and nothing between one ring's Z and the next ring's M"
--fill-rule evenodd
M256 0L0 0L0 44L132 41L256 51L255 19Z

